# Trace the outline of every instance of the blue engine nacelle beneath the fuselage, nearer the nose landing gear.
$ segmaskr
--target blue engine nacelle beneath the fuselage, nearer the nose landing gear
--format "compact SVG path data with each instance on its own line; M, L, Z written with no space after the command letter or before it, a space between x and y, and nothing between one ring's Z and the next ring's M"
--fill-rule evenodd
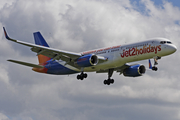
M146 72L144 65L133 65L124 70L123 75L127 77L138 77L142 76Z

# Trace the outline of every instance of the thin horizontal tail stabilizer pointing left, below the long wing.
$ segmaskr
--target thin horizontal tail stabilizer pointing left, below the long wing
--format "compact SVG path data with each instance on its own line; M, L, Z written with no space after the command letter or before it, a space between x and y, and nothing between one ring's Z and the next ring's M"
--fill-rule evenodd
M7 61L14 62L14 63L20 64L20 65L25 65L25 66L28 66L28 67L44 68L44 66L42 66L42 65L36 65L36 64L22 62L22 61L17 61L17 60L7 60Z

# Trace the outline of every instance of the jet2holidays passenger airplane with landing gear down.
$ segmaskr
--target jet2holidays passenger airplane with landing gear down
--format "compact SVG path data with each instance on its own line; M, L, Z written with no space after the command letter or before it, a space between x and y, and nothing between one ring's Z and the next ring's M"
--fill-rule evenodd
M4 27L3 29L6 39L30 47L31 51L37 53L39 64L11 59L8 61L32 67L33 71L39 73L54 75L80 73L77 75L78 80L87 78L85 72L107 73L108 79L103 81L105 85L114 83L114 79L111 79L114 71L126 77L139 77L145 74L144 65L130 64L130 62L149 59L149 69L157 71L158 60L177 50L170 40L153 38L132 44L75 53L50 48L40 32L33 33L35 44L32 44L10 38ZM154 66L150 59L154 59Z

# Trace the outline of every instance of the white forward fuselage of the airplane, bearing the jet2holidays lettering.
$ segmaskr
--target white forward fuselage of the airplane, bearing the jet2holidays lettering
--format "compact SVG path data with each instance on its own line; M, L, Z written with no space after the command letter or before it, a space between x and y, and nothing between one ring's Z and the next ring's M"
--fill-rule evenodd
M111 68L118 68L129 62L151 59L157 56L163 57L166 55L170 55L175 51L176 46L173 45L170 40L165 38L156 38L133 44L125 44L86 51L82 52L81 54L95 54L97 56L103 56L108 59L106 62L98 63L95 66L84 68L85 72L93 72ZM76 68L74 68L74 70L77 71Z

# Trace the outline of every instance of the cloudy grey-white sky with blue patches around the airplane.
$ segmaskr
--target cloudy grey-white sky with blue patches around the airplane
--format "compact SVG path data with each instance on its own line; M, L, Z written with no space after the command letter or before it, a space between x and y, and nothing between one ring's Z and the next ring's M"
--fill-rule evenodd
M154 37L179 48L179 0L0 0L0 28L34 43L40 31L56 49L81 52ZM107 74L55 76L8 62L37 63L28 47L0 32L0 120L179 120L180 56L159 60L158 71L138 78ZM148 67L148 61L138 61Z

